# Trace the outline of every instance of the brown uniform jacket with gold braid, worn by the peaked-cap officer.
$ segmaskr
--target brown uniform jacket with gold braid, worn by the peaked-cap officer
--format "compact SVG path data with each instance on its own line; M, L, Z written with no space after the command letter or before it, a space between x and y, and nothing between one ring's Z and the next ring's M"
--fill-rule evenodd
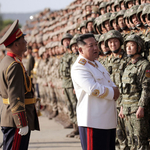
M34 94L22 63L6 55L0 68L1 96L9 100L2 107L1 126L21 128L28 125L30 130L39 130L35 104L25 105L25 99L33 99Z

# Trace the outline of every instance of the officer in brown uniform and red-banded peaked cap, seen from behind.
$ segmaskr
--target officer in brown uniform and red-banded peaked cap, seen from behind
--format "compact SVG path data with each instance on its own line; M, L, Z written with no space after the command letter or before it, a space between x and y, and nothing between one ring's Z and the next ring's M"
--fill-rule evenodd
M0 63L4 150L27 150L31 130L39 130L31 79L21 62L27 42L18 22L15 20L0 39L0 44L4 44L7 50Z

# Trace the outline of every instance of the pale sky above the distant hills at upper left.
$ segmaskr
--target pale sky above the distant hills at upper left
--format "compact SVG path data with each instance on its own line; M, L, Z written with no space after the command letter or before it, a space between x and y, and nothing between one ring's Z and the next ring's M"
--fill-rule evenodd
M0 13L30 13L45 8L59 10L71 2L73 0L0 0Z

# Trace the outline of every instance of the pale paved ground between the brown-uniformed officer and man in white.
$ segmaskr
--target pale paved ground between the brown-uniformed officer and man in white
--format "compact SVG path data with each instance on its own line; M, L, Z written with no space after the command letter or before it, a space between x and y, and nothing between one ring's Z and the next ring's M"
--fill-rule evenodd
M39 117L41 131L32 132L29 150L81 150L79 139L66 138L72 129L63 127L54 120Z

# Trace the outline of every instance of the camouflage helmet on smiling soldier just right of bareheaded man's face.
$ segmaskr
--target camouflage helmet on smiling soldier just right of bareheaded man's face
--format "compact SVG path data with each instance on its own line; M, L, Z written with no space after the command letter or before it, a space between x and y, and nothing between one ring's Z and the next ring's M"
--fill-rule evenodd
M105 46L108 47L108 40L112 39L112 38L117 38L120 41L120 45L123 44L123 37L121 35L121 33L117 30L110 30L107 32L106 36L105 36Z

